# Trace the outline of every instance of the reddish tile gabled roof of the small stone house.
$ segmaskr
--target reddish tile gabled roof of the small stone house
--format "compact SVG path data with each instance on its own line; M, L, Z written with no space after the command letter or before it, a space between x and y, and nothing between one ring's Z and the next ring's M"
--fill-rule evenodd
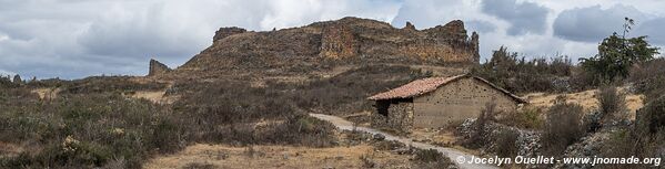
M446 85L451 82L454 82L456 80L464 78L464 77L476 78L483 83L486 83L487 85L492 86L493 88L498 89L500 92L508 95L510 97L512 97L513 99L515 99L518 103L527 103L525 99L510 93L506 89L503 89L503 88L490 83L487 80L484 80L484 78L481 78L477 76L471 76L468 74L462 74L462 75L450 76L450 77L430 77L430 78L416 80L409 84L400 86L397 88L393 88L391 91L371 96L367 99L380 101L380 99L393 99L393 98L412 98L415 96L420 96L420 95L436 91L436 88L439 88L440 86Z

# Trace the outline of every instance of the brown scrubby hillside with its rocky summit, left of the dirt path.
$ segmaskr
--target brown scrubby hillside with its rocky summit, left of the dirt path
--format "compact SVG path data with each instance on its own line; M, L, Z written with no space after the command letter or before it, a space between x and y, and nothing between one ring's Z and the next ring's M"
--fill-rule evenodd
M221 28L213 44L182 66L151 60L147 76L1 78L0 166L224 168L246 160L294 168L321 161L342 168L454 166L435 150L364 134L339 137L308 113L366 112L373 93L468 72L478 64L477 41L462 21L416 30L344 18L266 32ZM214 146L202 150L202 145ZM271 158L246 156L248 147ZM224 151L229 160L199 157L211 150ZM331 155L341 151L350 154Z

